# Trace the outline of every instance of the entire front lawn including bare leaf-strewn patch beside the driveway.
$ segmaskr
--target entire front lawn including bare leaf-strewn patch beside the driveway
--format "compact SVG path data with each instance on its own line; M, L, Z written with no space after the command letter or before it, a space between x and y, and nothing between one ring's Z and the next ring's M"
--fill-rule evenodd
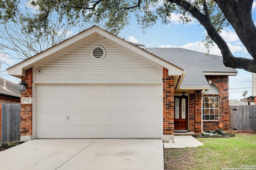
M256 170L255 134L197 139L204 145L198 148L165 148L165 169Z

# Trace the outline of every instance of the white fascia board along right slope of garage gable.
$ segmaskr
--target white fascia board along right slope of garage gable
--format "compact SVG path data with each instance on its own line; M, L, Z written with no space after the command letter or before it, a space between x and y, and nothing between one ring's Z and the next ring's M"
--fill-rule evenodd
M117 36L113 36L111 33L106 32L105 30L98 30L98 34L101 34L101 38L106 38L108 42L111 42L112 44L128 51L129 53L136 55L149 63L152 63L153 65L161 65L162 67L168 69L169 75L182 75L184 73L184 70L168 63L167 61L151 54L148 51L145 51L144 49L141 49L140 47L137 47L136 45L133 45L132 43L127 42L126 40L123 40L122 38L119 38Z

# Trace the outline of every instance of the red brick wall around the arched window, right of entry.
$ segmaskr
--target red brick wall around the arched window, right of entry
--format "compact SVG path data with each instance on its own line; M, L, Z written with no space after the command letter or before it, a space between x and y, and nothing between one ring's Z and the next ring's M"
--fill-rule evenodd
M203 121L204 131L220 129L219 127L220 123L223 124L222 130L228 130L229 129L228 76L206 76L206 79L212 80L212 84L218 87L220 91L220 94L219 94L220 117L219 117L219 121Z

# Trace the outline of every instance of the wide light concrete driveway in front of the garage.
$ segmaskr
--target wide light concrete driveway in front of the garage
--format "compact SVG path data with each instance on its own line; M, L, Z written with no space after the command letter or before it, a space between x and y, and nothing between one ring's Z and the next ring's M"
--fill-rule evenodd
M2 170L163 170L161 139L30 140L0 152Z

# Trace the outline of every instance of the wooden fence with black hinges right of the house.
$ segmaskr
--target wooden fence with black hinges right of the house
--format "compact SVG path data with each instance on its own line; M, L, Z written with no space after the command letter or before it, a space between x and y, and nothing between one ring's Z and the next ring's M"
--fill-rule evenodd
M229 110L231 133L256 133L256 105L229 106Z

